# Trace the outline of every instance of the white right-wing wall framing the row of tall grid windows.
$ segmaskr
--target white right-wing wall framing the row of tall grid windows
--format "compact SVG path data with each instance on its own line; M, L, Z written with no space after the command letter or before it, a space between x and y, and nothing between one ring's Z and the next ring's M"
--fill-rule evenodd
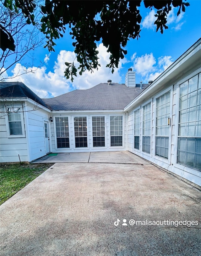
M201 172L183 166L177 163L177 134L178 134L178 120L179 120L179 85L188 80L189 78L195 76L201 71L201 68L196 68L194 71L188 72L180 78L175 79L174 83L169 82L162 90L157 92L157 94L152 95L152 98L146 99L146 101L141 101L140 105L135 106L128 112L128 151L153 162L168 171L180 176L180 178L190 181L198 186L201 186ZM168 159L159 157L155 155L155 129L156 129L156 117L155 117L155 100L164 93L171 91L171 125L170 125L170 135L169 135L169 152ZM150 154L142 151L142 106L146 105L151 101L152 106L152 134L151 134L151 151ZM141 107L140 112L140 148L139 150L134 149L134 120L133 113L135 110Z

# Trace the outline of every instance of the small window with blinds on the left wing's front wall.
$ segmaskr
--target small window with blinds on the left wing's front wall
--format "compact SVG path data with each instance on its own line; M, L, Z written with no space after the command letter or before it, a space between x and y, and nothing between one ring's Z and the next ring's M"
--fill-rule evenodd
M20 108L7 108L10 135L22 135Z

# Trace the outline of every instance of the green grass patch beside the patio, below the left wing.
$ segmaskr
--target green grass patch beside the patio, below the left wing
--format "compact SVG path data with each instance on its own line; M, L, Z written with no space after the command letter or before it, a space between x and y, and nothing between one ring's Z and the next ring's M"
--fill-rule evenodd
M23 189L32 180L51 167L53 163L13 164L0 168L0 205Z

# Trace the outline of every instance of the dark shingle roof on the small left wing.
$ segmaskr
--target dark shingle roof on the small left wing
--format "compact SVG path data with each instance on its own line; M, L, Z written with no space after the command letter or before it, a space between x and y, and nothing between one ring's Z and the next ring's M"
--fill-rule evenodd
M3 98L29 98L36 103L41 104L44 107L47 105L38 97L30 88L28 88L23 82L1 82L1 93Z

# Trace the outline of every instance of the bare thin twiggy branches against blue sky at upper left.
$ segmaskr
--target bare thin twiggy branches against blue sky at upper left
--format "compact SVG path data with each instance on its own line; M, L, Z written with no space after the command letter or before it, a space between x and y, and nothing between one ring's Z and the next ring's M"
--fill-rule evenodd
M36 2L36 1L35 1ZM41 0L37 1L37 4L40 4ZM0 2L0 23L3 24L3 27L12 35L15 41L15 51L7 49L5 51L1 50L1 66L0 66L0 81L5 81L6 78L4 74L14 67L17 63L25 67L25 72L17 74L16 77L36 71L41 67L44 62L40 61L37 68L34 68L34 59L33 55L31 57L28 55L37 47L43 45L44 38L41 37L41 32L39 30L39 20L41 13L38 10L35 10L35 22L36 25L28 25L26 19L22 12L16 13L15 10L10 10L3 6L3 2ZM27 65L27 58L30 58L32 65ZM26 62L24 61L26 59ZM30 68L30 70L29 70ZM14 78L14 77L12 77Z

